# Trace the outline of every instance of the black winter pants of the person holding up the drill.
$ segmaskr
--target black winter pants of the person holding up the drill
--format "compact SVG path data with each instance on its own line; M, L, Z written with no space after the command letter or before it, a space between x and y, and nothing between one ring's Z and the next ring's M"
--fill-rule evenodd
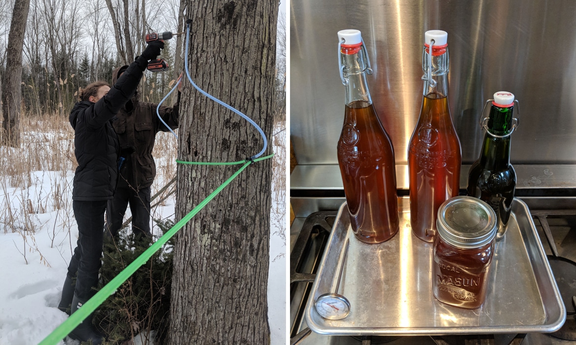
M95 293L101 266L104 211L107 201L72 201L78 224L78 242L68 265L68 275L77 276L75 295L83 301Z

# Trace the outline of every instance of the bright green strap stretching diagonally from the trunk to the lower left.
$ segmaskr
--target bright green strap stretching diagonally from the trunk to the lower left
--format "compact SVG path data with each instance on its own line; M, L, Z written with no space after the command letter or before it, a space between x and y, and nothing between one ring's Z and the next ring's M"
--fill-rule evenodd
M258 162L260 160L268 159L274 156L273 154L270 156L266 156L263 158L257 158L254 162ZM242 170L244 170L247 166L249 166L252 162L245 162L245 164L236 171L226 182L222 183L214 192L212 192L207 198L202 200L202 202L196 206L190 213L185 215L180 221L170 230L166 231L166 233L158 238L158 241L152 243L152 245L145 250L136 260L132 261L128 267L124 268L124 270L118 273L108 284L106 284L100 291L96 292L96 294L88 300L88 302L84 303L84 305L79 308L74 314L72 314L66 321L62 322L52 333L50 333L44 340L40 342L39 345L54 345L58 344L58 342L64 339L67 335L70 334L86 317L88 317L98 306L100 306L110 295L116 292L116 289L122 285L122 283L126 282L126 280L137 271L149 258L158 251L162 246L165 245L166 242L170 238L172 238L184 224L188 223L192 217L196 215L206 204L208 204L218 193L222 191L234 178L236 178Z

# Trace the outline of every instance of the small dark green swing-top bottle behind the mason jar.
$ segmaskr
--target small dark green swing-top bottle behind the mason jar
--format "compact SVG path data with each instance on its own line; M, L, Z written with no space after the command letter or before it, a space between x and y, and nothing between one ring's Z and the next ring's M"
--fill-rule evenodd
M513 110L512 93L494 93L490 116L481 121L486 129L482 152L468 173L468 196L486 201L496 212L497 240L506 232L516 189L516 172L510 164L510 134L518 125Z

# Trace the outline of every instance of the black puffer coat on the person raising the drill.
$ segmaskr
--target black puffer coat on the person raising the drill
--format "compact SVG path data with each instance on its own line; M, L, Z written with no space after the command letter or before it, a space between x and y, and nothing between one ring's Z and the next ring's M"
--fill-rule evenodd
M74 174L73 200L109 200L118 183L120 145L111 120L132 98L147 61L132 62L122 77L96 103L78 102L70 113L74 128L74 155L78 167Z

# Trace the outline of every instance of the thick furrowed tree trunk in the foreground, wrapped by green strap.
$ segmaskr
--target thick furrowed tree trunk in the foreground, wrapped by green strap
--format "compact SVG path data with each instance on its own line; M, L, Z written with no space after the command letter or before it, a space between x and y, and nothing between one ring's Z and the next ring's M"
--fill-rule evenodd
M192 79L271 138L278 2L187 2ZM190 83L184 83L180 104L180 160L230 162L262 149L255 128ZM264 155L271 152L269 146ZM169 344L270 343L271 167L270 159L251 164L177 235ZM180 164L177 219L238 168ZM285 298L285 291L276 293Z

